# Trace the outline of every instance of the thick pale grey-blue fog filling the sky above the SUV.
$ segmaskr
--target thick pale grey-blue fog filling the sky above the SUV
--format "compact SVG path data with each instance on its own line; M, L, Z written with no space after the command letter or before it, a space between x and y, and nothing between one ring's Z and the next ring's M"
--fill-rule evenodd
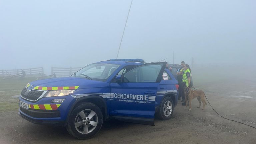
M1 0L0 69L116 58L130 0ZM133 0L118 58L255 64L256 1ZM173 62L174 52L174 62Z

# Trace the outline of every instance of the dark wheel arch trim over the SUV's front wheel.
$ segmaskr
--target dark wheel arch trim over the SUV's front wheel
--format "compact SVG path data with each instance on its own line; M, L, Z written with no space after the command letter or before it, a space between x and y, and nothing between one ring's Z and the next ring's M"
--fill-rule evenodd
M97 105L102 111L103 120L106 120L108 118L107 104L106 104L106 101L104 100L104 98L99 95L88 95L88 96L81 97L74 102L74 104L71 106L71 108L68 112L64 126L67 125L69 116L70 116L71 112L73 111L73 109L77 105L79 105L83 102L91 102L91 103Z

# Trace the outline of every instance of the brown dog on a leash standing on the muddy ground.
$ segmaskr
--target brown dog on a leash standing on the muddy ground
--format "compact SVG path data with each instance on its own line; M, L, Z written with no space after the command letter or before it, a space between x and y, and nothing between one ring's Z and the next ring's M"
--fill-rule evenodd
M197 108L200 108L201 106L201 101L203 103L203 108L202 110L204 110L206 103L205 100L205 94L203 91L201 90L191 90L189 87L186 87L184 89L184 93L185 93L185 101L186 101L186 107L184 109L187 109L187 105L188 105L188 101L189 101L189 111L191 111L191 100L195 97L197 97L197 100L199 102L199 106Z

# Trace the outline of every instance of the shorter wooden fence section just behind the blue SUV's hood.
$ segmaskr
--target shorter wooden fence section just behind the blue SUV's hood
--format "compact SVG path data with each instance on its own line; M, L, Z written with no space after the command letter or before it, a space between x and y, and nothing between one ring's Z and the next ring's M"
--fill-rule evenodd
M51 74L55 73L57 77L69 77L73 73L77 72L83 67L69 67L69 68L61 68L61 67L52 67Z

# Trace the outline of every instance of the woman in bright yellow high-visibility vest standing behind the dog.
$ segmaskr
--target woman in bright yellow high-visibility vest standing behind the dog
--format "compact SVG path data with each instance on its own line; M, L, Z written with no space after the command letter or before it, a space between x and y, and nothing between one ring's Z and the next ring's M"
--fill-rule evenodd
M192 88L192 83L190 84L190 82L191 82L191 69L188 64L185 64L183 69L183 75L182 75L183 90L185 89L185 87ZM183 102L182 105L186 105L186 103Z

